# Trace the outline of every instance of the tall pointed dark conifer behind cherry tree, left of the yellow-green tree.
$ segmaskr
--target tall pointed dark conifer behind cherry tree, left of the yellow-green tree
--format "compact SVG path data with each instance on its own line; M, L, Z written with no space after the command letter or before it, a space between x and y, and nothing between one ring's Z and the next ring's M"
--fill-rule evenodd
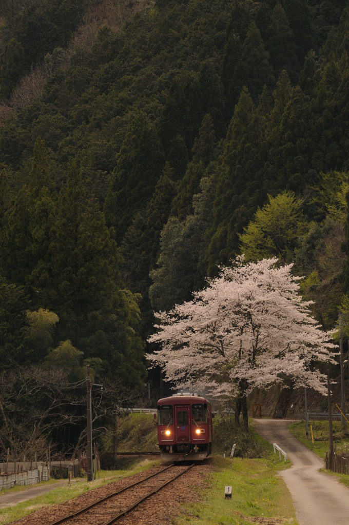
M215 265L228 262L237 253L238 232L262 204L259 171L266 160L265 134L265 118L244 88L224 141L222 170L213 204L210 274Z

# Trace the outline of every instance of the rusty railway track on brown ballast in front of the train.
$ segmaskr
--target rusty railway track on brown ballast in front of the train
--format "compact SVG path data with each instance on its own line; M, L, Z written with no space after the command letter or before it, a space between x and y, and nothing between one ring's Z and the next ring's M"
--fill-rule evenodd
M192 465L169 465L141 481L108 494L90 505L51 521L48 525L112 525L136 509L142 501L187 472Z

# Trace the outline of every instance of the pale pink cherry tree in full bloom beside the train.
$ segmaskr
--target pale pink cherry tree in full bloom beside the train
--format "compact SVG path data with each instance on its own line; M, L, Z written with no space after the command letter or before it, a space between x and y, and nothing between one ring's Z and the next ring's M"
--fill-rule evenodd
M326 393L326 376L315 362L334 363L335 346L299 293L292 264L278 259L245 264L240 256L219 277L169 312L158 312L157 332L149 338L160 349L148 354L176 387L205 388L242 404L253 388L291 379ZM159 348L158 346L158 348Z

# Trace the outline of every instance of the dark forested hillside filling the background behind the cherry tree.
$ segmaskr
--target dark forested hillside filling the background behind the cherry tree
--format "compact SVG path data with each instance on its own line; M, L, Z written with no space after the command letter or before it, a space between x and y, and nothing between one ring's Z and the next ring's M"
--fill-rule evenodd
M344 0L3 0L2 370L141 390L152 311L242 253L293 261L331 329L348 53Z

